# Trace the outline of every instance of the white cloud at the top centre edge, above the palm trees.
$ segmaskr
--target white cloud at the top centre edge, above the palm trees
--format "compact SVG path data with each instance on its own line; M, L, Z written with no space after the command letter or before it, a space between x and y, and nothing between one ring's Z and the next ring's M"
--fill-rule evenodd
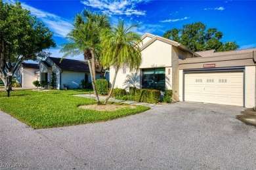
M109 15L125 15L125 16L144 16L146 10L137 10L135 7L139 3L147 3L152 0L84 0L81 1L87 7L100 9Z

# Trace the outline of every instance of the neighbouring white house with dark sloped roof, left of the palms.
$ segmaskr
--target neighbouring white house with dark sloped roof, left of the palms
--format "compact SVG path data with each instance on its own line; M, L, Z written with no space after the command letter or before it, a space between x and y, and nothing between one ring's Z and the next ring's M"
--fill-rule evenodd
M40 80L51 82L52 71L56 73L56 87L64 89L63 84L68 84L70 88L79 88L81 80L91 82L89 65L87 61L78 61L74 59L46 58L39 62ZM96 79L101 78L99 72L96 73ZM108 79L108 75L106 76Z

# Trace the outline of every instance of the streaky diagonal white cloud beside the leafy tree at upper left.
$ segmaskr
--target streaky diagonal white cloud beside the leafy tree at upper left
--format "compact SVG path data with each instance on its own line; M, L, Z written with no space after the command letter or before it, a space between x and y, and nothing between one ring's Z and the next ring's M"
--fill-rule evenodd
M15 3L14 0L6 0L5 2L12 4ZM42 22L47 25L51 31L53 31L56 37L66 37L73 27L72 23L68 20L60 18L60 16L56 16L55 14L35 9L34 7L26 5L26 3L22 3L22 8L30 10L33 16L41 19Z

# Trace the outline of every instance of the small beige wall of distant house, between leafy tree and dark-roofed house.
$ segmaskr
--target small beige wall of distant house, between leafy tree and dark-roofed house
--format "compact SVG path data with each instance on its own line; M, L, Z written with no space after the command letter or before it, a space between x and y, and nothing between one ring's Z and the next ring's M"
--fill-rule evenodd
M33 81L37 80L35 69L23 68L22 71L22 88L34 88Z

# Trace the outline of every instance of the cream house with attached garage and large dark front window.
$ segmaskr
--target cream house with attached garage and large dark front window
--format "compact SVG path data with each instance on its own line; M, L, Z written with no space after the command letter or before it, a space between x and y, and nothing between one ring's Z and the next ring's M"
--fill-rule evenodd
M146 33L139 71L121 70L115 88L173 90L173 101L254 107L256 48L193 52L182 44ZM137 78L134 78L137 75ZM131 83L133 76L133 83ZM110 82L114 69L110 69Z

